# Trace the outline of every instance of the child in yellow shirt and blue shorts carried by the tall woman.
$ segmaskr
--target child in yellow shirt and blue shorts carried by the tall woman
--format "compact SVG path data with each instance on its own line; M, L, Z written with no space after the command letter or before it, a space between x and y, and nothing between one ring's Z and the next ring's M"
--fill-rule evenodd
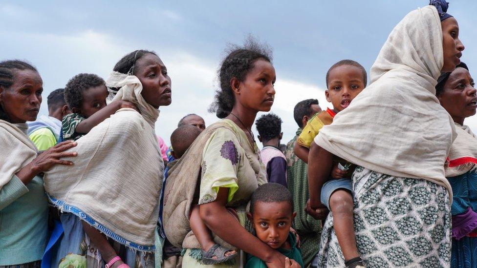
M320 129L332 124L334 116L344 110L366 87L366 70L358 62L343 60L333 64L326 73L326 100L333 110L319 112L313 116L295 144L295 154L304 162L308 159L309 148ZM349 268L362 267L363 262L356 247L353 225L353 187L351 173L354 167L343 159L333 160L334 166L326 183L322 182L321 203L333 213L333 227L341 250Z

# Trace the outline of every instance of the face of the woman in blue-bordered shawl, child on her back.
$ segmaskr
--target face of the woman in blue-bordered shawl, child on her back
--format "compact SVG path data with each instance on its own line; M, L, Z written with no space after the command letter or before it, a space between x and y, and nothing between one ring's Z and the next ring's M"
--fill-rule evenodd
M141 95L155 108L172 102L171 78L164 63L154 54L148 53L135 63L134 75L141 81Z

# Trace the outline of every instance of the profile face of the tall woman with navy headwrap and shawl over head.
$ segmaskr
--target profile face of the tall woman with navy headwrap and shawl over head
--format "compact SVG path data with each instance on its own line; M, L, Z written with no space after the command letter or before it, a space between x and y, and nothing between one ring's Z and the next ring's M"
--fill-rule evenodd
M444 66L442 72L452 72L460 63L464 45L459 39L459 25L454 17L441 22L442 48L444 50Z

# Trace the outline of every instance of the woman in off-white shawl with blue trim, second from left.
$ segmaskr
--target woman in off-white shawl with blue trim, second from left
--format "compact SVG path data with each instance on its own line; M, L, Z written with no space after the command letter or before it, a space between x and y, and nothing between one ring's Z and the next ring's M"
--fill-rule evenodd
M106 86L107 102L128 101L139 112L119 109L77 140L75 168L45 175L52 203L70 212L62 214L65 235L55 267L76 261L88 268L154 267L164 166L154 125L159 106L171 103L171 78L154 52L136 50L116 63ZM85 236L78 218L109 241L97 231Z

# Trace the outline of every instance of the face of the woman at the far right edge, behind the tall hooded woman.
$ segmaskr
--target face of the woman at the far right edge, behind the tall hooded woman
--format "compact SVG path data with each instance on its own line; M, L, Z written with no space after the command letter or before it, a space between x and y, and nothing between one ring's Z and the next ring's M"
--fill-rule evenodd
M477 97L474 79L469 71L457 67L444 84L442 93L437 97L456 123L462 124L464 118L476 114Z

